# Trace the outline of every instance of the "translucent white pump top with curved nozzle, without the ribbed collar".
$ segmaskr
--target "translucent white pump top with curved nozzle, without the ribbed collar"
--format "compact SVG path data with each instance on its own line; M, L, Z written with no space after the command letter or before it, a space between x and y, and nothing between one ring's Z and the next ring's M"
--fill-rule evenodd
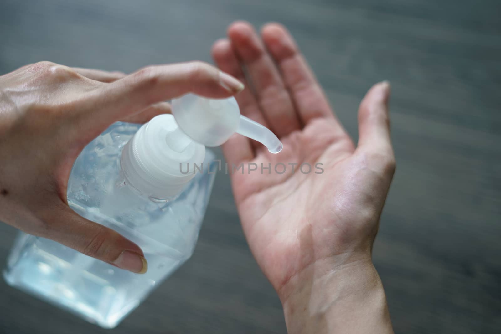
M233 97L214 100L186 94L172 100L172 114L188 137L205 146L219 146L236 132L259 141L272 153L283 147L268 128L240 115Z

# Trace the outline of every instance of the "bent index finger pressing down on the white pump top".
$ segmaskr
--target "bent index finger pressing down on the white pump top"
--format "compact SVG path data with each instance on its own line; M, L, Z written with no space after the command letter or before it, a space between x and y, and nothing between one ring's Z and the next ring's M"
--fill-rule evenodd
M95 125L98 119L108 126L152 104L186 93L226 98L242 89L238 80L205 63L151 66L95 90L89 98L92 110L86 111L86 120Z

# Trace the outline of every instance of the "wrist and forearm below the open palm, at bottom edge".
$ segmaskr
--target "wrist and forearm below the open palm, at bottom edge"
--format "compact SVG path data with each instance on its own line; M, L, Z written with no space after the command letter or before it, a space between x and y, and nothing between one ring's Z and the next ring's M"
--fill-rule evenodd
M308 270L290 282L301 284L283 300L289 334L393 333L383 285L370 261L317 277L318 268Z

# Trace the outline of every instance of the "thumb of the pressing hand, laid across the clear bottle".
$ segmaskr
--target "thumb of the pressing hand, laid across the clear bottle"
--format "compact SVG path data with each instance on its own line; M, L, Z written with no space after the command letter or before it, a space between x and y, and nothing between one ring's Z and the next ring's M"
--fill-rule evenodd
M66 205L57 206L45 220L50 229L41 233L43 237L121 269L136 273L148 269L138 245L108 227L81 217Z

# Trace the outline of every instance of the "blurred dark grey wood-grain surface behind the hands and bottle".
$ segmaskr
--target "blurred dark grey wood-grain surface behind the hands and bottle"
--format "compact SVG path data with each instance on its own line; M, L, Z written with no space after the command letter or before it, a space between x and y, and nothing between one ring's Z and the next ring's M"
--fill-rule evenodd
M402 333L501 331L499 0L0 0L0 73L41 60L133 71L210 61L233 20L287 25L356 136L392 83L397 172L374 260ZM8 163L1 161L0 163ZM0 263L16 231L0 224ZM1 333L284 333L219 175L192 259L107 331L0 282Z

